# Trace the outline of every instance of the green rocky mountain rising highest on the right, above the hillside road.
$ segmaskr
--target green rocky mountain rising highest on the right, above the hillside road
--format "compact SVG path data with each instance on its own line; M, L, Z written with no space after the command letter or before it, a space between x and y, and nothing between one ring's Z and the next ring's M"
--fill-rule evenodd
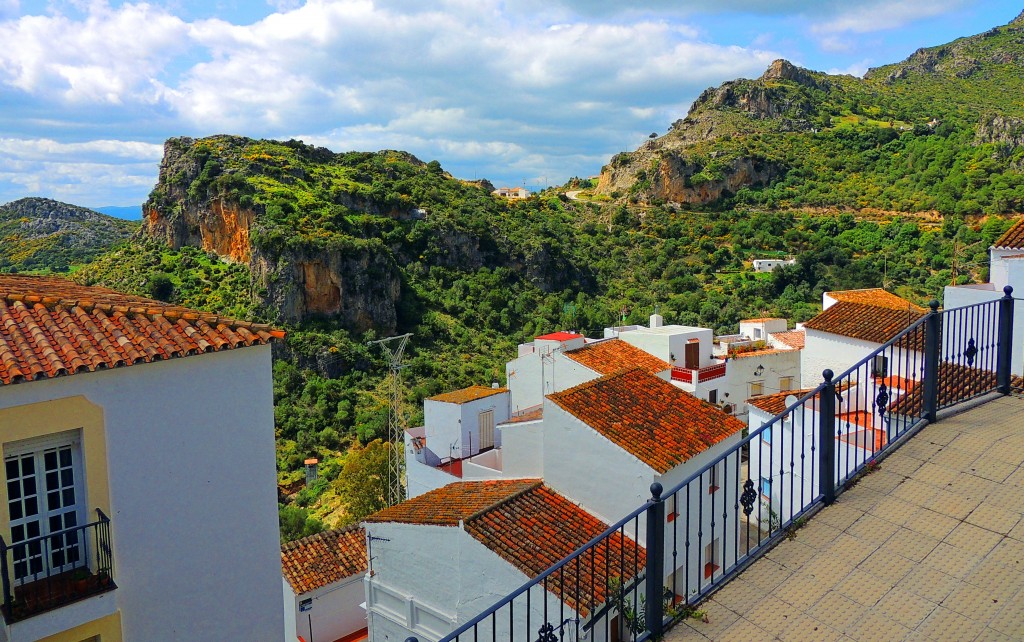
M596 192L689 206L1024 208L1024 18L863 78L775 60L709 88Z

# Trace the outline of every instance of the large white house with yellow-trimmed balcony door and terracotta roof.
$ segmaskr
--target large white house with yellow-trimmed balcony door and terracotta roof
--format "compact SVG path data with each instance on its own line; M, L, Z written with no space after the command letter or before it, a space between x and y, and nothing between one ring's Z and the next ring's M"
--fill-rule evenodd
M269 346L283 336L0 274L0 640L287 637Z

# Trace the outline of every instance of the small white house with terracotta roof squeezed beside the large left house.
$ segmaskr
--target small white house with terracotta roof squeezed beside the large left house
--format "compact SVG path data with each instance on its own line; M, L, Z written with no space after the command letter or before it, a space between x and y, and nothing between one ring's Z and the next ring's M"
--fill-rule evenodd
M290 640L366 640L367 533L358 526L325 530L281 547L285 622Z

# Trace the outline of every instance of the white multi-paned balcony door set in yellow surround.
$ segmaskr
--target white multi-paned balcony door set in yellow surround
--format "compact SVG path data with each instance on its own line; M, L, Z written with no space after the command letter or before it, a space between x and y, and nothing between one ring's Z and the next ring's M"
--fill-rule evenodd
M5 448L7 514L13 549L14 582L25 584L85 564L77 440ZM38 540L34 540L39 538Z

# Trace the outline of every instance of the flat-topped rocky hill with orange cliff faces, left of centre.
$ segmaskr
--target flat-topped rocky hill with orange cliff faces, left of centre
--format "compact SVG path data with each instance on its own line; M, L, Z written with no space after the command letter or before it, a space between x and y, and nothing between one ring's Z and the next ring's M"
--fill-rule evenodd
M413 296L410 267L506 266L544 290L567 283L557 252L501 229L506 205L487 186L403 152L172 138L142 233L245 264L252 296L280 322L392 332Z

